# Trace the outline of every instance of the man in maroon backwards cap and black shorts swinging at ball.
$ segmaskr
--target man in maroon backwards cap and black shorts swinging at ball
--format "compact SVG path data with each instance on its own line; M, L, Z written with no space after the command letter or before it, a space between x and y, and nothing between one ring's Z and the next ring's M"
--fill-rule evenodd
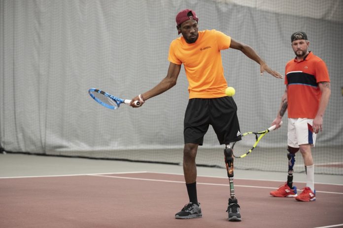
M197 198L197 168L195 158L199 145L203 144L204 135L212 125L220 144L225 144L224 154L227 167L233 164L230 142L241 139L237 117L237 106L232 97L225 94L227 82L224 77L220 51L228 48L240 50L244 55L260 64L260 73L267 71L275 78L282 78L248 45L240 43L230 36L216 30L198 31L198 17L193 10L185 9L176 15L176 28L182 36L173 40L170 45L170 61L167 76L149 91L134 97L134 101L144 103L147 99L159 95L176 85L181 64L184 65L189 82L189 102L184 118L183 171L189 203L175 214L177 219L202 217ZM233 166L232 166L233 167ZM233 172L229 173L233 178ZM233 185L232 185L233 186ZM231 189L231 193L233 189ZM228 205L229 221L240 221L240 206L231 194Z

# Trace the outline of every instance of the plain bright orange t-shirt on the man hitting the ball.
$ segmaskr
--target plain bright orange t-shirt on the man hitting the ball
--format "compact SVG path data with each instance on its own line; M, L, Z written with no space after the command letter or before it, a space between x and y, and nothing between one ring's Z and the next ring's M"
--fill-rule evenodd
M226 96L220 50L228 49L230 43L230 36L214 29L199 31L197 41L192 44L183 36L171 42L168 60L178 65L183 63L190 99Z

